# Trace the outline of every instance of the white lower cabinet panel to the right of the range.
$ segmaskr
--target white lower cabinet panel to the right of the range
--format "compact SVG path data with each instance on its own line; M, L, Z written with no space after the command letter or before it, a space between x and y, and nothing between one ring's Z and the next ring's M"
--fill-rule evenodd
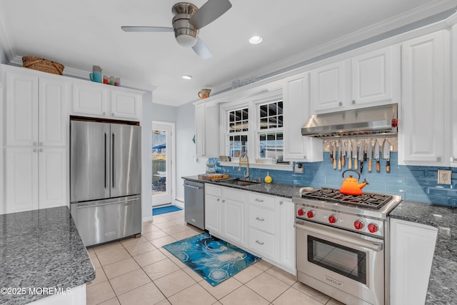
M391 219L391 305L424 304L438 229Z

